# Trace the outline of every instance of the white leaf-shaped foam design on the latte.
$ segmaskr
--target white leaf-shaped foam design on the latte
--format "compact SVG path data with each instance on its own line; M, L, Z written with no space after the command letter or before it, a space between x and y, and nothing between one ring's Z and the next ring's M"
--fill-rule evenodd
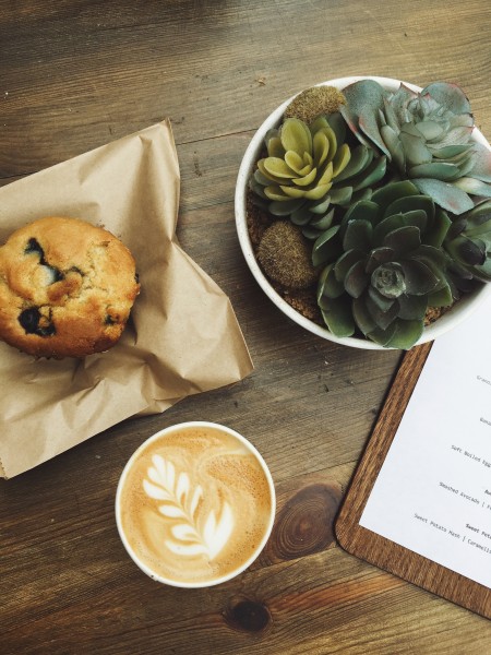
M203 488L192 488L189 475L179 474L172 462L161 455L153 455L153 466L147 469L147 478L143 480L145 493L161 501L158 512L163 517L171 520L172 539L166 539L166 547L176 555L206 555L214 559L226 545L233 529L233 515L230 505L224 501L217 519L215 510L206 516L202 515Z

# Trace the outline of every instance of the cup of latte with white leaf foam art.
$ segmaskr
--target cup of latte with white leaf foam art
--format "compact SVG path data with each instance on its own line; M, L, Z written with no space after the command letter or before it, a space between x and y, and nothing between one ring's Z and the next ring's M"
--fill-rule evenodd
M260 453L209 422L144 442L118 486L117 525L133 560L176 586L209 586L243 571L271 533L275 491Z

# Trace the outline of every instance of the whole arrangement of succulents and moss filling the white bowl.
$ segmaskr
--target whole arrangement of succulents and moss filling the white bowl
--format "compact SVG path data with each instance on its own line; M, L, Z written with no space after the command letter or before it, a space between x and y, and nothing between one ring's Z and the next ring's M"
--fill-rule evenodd
M334 335L410 348L430 313L491 282L491 152L474 129L464 92L444 82L299 94L249 184L270 221L265 274L311 288Z

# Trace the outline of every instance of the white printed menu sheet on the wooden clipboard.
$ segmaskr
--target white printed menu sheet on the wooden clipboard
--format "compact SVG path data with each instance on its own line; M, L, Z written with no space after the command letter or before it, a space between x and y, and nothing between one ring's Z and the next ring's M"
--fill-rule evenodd
M433 344L360 525L491 588L491 298Z

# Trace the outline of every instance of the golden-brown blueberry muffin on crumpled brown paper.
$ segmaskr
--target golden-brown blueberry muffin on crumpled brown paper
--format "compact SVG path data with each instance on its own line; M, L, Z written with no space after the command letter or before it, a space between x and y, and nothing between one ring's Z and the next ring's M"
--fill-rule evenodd
M109 231L40 218L0 248L0 340L56 359L107 350L139 291L134 259Z

